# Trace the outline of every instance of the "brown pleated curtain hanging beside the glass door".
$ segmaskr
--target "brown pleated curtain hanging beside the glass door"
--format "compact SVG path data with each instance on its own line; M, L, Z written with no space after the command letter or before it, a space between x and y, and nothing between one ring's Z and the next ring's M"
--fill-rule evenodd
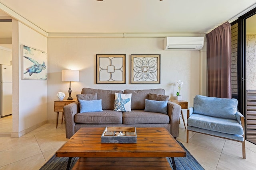
M206 35L208 95L231 98L231 25L223 23Z

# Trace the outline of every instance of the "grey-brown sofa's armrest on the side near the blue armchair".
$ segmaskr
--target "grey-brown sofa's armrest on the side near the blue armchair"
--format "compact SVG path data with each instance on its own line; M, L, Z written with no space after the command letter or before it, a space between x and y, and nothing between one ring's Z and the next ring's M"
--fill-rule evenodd
M179 136L179 120L180 120L180 111L181 111L181 106L168 101L167 103L167 114L170 117L170 134L173 137L178 137Z

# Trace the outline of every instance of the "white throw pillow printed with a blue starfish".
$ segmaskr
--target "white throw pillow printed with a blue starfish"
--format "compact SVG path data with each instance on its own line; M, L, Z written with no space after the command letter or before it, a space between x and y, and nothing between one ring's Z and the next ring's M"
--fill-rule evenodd
M131 100L132 94L115 93L114 111L132 111Z

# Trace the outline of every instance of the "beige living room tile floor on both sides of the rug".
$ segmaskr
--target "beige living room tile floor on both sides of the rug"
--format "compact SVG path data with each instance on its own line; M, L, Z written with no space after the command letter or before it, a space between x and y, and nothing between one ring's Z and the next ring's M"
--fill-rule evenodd
M38 170L66 141L65 125L48 123L20 138L0 137L0 170ZM246 159L240 143L191 133L180 124L177 138L206 170L256 170L256 145L246 141Z

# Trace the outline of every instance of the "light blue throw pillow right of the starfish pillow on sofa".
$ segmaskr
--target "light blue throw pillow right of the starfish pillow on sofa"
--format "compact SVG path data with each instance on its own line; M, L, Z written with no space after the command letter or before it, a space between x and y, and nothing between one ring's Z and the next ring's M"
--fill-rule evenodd
M167 114L167 103L166 101L156 101L156 100L145 100L145 109L144 111L149 112L158 112L158 113L164 113Z

